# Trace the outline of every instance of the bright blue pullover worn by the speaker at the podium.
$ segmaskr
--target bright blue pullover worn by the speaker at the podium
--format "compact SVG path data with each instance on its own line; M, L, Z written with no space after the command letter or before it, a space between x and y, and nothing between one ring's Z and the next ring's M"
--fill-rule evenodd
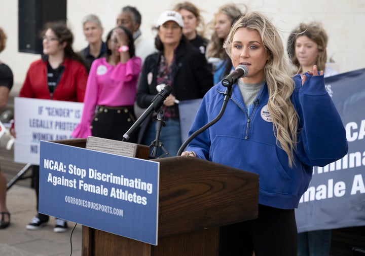
M302 86L294 77L291 101L298 113L298 144L293 167L279 147L267 109L267 84L247 117L241 92L233 85L222 118L194 138L187 150L197 157L259 174L259 203L281 209L298 207L313 166L324 166L347 154L346 132L324 88L323 76L308 76ZM221 110L226 87L218 83L204 96L189 134L213 120Z

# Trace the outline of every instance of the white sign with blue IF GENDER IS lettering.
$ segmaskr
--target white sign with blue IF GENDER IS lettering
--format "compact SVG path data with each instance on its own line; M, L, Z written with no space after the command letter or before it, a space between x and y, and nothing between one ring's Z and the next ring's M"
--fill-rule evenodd
M40 141L71 138L84 104L16 97L14 162L39 165Z

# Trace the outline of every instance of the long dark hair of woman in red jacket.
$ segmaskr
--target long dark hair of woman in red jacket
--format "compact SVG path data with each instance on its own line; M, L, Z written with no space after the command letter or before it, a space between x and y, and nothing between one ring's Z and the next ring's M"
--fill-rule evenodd
M66 42L66 46L63 49L65 58L76 60L82 63L86 67L85 62L80 57L80 55L75 53L74 49L72 49L72 43L74 43L74 34L72 34L71 30L67 27L66 22L65 21L47 22L43 26L41 37L45 35L48 29L51 29L55 33L59 44L63 44L64 42Z

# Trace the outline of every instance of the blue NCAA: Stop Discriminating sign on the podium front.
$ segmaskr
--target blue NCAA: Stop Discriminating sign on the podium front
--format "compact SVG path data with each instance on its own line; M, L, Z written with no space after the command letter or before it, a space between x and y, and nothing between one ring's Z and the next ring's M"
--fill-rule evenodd
M39 211L157 245L158 162L41 141Z

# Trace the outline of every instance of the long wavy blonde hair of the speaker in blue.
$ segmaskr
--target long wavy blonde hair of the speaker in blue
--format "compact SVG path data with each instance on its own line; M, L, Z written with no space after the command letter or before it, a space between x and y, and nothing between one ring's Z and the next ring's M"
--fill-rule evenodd
M264 67L264 76L269 90L268 108L273 120L273 130L277 144L288 156L290 167L294 163L297 147L298 115L291 94L294 82L289 75L289 60L284 54L284 47L276 27L263 14L249 12L240 17L232 26L224 44L231 57L233 35L238 28L257 30L268 52L269 59Z

